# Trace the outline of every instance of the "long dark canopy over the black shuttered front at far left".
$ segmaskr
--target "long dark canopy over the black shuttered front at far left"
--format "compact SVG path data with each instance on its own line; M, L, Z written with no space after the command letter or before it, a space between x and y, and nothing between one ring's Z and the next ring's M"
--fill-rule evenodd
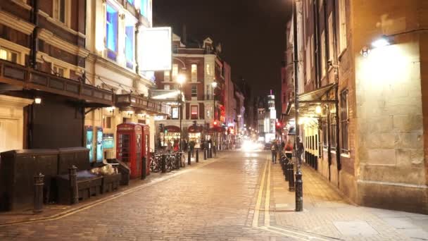
M110 90L44 73L1 59L0 83L21 87L22 89L37 89L37 91L41 92L63 95L84 101L86 106L103 107L114 105L114 94ZM4 94L7 94L7 92Z

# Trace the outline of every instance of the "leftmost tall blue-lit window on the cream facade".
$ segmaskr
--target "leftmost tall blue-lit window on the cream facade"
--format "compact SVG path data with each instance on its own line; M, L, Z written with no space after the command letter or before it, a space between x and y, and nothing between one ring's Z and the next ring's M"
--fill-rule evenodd
M110 50L108 58L116 60L115 53L118 52L118 11L109 4L106 13L106 47Z

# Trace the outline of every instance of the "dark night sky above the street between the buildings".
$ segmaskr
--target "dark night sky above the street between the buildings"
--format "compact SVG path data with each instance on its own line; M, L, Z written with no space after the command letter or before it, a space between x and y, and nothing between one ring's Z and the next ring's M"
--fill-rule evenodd
M232 78L244 78L251 85L253 97L274 89L278 102L291 3L291 0L155 0L153 22L155 26L171 26L178 35L185 24L188 38L202 40L212 36L215 42L222 43L222 55L232 66Z

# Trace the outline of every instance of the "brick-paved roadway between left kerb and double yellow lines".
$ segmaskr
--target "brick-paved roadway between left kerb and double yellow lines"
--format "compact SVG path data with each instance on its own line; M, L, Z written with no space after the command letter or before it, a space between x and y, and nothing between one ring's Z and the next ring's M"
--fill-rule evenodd
M0 226L0 240L294 240L251 226L264 157L223 156L67 216Z

